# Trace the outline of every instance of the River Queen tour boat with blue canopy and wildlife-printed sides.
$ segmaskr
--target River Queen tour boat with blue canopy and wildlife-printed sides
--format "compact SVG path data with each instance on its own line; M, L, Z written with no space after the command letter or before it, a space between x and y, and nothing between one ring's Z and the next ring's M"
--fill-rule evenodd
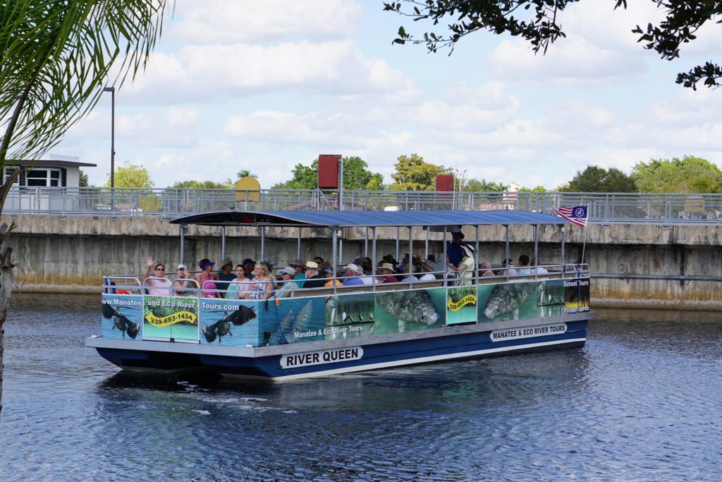
M147 282L136 275L108 275L103 286L101 334L87 338L86 345L122 369L194 369L269 380L328 376L578 348L586 342L587 324L594 317L589 305L588 265L567 264L563 259L568 221L539 212L222 211L188 215L170 223L181 226L181 259L184 233L192 225L220 228L224 251L227 228L257 227L261 257L268 252L269 229L277 228L271 231L274 236L287 236L282 240L286 247L297 243L297 258L302 253L301 230L311 228L316 233L312 236L317 236L315 242L325 230L331 242L334 279L339 281L345 278L337 276L338 270L357 255L368 255L377 266L380 233L386 233L388 240L388 233L395 231L398 259L403 229L409 235L408 249L404 244L403 251L413 254L416 245L419 258L435 258L435 279L380 283L382 278L372 273L370 284L302 288L288 298L277 296L277 283L270 298L252 300L206 298L201 292L207 292L207 286L196 286L193 296L173 296L171 291L168 296L151 296L145 291ZM560 259L545 263L544 270L532 266L532 274L525 270L524 275L510 275L497 266L492 276L482 275L479 259L466 272L451 270L443 262L447 249L452 249L449 233L464 233L466 242L462 243L475 248L478 256L484 244L479 241L479 229L499 225L506 230L505 240L497 241L505 241L504 259L510 258L512 227L531 228L534 259L539 259L539 229L544 229L545 240L557 236ZM365 238L344 244L344 233L349 232L344 230L365 233ZM436 257L429 252L430 242L440 246ZM386 243L388 246L389 241ZM276 269L291 260L287 261ZM225 290L217 291L225 294Z

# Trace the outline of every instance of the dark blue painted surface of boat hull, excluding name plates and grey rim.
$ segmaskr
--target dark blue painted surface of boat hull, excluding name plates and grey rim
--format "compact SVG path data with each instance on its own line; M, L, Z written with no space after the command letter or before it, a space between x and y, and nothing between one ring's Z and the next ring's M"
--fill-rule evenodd
M98 348L98 353L103 358L123 368L152 370L203 369L229 377L284 380L419 363L581 347L586 342L587 325L587 319L580 319L567 322L565 332L557 335L524 337L502 341L492 341L491 331L476 331L452 335L411 337L408 340L388 343L370 343L374 341L373 338L336 340L344 342L345 347L341 348L334 341L319 342L313 347L305 343L296 343L284 345L285 353L273 353L268 356L264 356L264 351L268 351L269 348L256 348L253 355L249 356L214 354L209 353L207 350L206 353L175 353L173 351L160 352L113 348ZM443 330L439 331L443 332ZM334 359L327 362L321 359L318 360L318 364L299 363L300 366L282 368L284 362L293 361L304 356L311 360L313 357L310 353L352 353L351 350L353 349L360 350L362 354L355 359L343 361ZM329 356L329 358L331 357Z

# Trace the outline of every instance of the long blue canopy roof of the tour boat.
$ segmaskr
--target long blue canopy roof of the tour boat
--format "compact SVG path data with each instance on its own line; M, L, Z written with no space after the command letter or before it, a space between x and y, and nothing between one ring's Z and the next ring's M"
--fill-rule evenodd
M175 218L170 223L206 226L299 226L354 228L380 226L461 226L490 224L565 224L539 212L489 211L215 211Z

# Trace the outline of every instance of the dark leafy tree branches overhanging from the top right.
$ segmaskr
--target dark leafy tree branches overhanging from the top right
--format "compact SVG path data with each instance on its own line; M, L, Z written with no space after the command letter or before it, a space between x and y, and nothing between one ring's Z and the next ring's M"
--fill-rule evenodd
M445 33L425 33L423 38L414 38L399 27L398 37L393 43L423 43L429 51L450 48L466 35L487 30L497 35L509 33L519 36L531 44L534 52L547 52L549 45L566 35L560 25L561 12L580 0L399 0L385 1L383 9L397 12L414 21L431 22L434 27L447 25ZM599 0L588 0L597 1ZM614 9L627 8L627 0L614 1ZM609 2L610 7L612 1ZM705 22L715 22L722 15L721 1L689 0L648 0L664 12L666 18L659 25L648 24L637 27L632 33L639 35L639 42L653 50L665 60L679 58L679 46L695 40L697 29ZM526 12L531 12L531 14ZM695 66L688 72L677 75L677 83L696 90L697 82L708 87L722 83L722 69L707 62Z

